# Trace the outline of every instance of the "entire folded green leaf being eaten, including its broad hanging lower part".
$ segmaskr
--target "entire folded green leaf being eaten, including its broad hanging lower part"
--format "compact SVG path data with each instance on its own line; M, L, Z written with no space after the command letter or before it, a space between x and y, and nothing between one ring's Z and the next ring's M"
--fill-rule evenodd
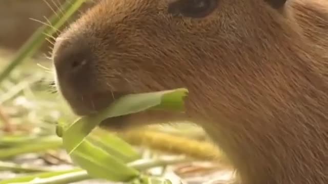
M91 131L105 119L150 108L183 110L183 98L187 93L187 89L180 88L127 95L97 114L76 120L67 129L60 128L64 125L58 123L57 134L63 135L64 148L70 154L73 162L86 169L91 176L112 181L128 181L138 176L139 172L128 167L126 163L139 158L139 154L128 143L110 133L107 136L101 133L100 136L97 133L90 134ZM108 146L106 146L107 143Z

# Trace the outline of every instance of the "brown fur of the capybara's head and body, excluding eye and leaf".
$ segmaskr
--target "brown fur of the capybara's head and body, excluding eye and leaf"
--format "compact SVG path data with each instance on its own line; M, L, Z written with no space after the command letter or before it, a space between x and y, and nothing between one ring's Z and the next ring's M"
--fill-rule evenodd
M168 15L166 0L103 1L58 38L57 84L77 114L111 94L187 87L186 114L143 112L110 126L187 115L243 184L325 184L326 4L289 0L281 14L263 0L221 0L197 19Z

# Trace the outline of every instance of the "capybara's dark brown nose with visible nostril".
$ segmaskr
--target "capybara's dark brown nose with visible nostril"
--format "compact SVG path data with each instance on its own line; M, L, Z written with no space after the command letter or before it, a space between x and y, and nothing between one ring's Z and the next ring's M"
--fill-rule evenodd
M59 86L76 92L93 87L94 60L94 55L84 40L58 39L53 51L53 62Z

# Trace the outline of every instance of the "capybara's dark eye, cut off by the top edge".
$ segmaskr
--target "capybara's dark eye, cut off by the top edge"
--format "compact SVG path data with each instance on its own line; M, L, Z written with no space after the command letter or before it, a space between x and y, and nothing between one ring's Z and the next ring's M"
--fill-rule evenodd
M191 18L202 18L211 14L218 0L176 0L169 5L168 12Z

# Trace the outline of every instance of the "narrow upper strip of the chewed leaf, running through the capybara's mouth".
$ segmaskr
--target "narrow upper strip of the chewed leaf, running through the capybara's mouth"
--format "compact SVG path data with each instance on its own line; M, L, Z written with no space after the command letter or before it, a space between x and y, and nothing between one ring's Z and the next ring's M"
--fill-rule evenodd
M118 116L124 116L150 109L183 110L183 98L188 90L179 88L175 90L157 91L153 93L133 94L124 96L112 103L105 110L75 121L63 133L63 144L69 154L85 139L101 121Z

